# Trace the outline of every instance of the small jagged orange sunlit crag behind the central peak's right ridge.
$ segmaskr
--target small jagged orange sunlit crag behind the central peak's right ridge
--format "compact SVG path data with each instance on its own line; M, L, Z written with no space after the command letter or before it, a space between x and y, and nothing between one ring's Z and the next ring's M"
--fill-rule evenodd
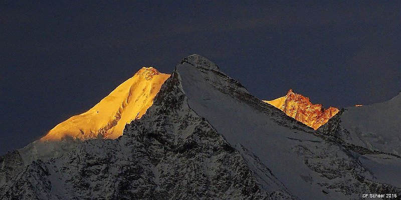
M313 104L308 97L294 93L292 89L283 97L263 101L281 109L288 116L305 123L315 130L327 123L339 111L336 107L324 109L321 104Z

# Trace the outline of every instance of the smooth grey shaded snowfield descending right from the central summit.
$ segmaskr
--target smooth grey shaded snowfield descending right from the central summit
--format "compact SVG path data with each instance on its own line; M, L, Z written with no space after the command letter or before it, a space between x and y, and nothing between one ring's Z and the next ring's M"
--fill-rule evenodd
M192 56L196 57L195 60L203 59L198 55ZM190 57L188 57L189 61L176 66L176 72L181 78L183 90L188 97L188 104L197 114L207 118L232 145L239 143L258 156L293 195L302 199L349 197L345 197L344 193L335 189L329 189L333 187L331 184L338 183L322 177L322 174L312 170L311 166L305 163L309 156L305 154L310 151L311 158L316 159L313 153L318 153L319 149L334 151L333 159L349 160L350 157L341 151L341 147L333 147L322 141L320 137L311 134L312 130L311 133L298 131L297 129L305 129L301 124L294 128L288 127L291 125L286 127L279 124L277 122L279 119L267 115L260 110L260 107L241 101L241 96L232 95L233 93L245 95L247 93L245 88L234 87L231 78L216 68L199 67L193 64ZM269 111L279 110L270 109ZM286 123L292 124L293 120L287 119ZM310 149L307 149L305 153L302 150L300 152L299 150L304 146ZM321 165L322 168L325 164L330 165L330 163L320 162L316 164ZM322 190L330 192L330 195Z

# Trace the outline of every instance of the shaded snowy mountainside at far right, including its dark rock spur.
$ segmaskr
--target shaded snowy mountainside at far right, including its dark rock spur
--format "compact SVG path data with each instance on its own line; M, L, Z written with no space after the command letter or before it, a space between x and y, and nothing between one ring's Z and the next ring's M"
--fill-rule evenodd
M362 153L379 181L401 187L401 94L372 105L346 107L318 130Z

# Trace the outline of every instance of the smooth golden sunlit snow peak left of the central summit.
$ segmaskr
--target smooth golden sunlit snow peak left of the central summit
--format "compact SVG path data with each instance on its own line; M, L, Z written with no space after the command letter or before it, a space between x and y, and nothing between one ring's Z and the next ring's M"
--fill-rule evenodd
M153 104L153 98L169 76L153 67L142 67L90 110L59 123L40 140L115 139L122 135L127 123L140 118Z

